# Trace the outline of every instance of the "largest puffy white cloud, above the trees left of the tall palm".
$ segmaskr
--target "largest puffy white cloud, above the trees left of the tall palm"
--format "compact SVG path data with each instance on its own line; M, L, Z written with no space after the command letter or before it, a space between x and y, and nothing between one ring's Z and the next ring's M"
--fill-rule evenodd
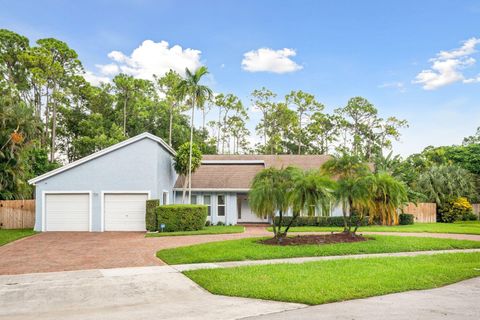
M97 75L88 71L85 78L99 83L100 80L105 82L118 73L126 73L136 78L151 80L154 74L162 76L170 69L184 75L185 68L195 70L202 65L201 51L183 49L179 45L170 47L166 41L145 40L131 54L114 50L108 54L108 58L110 63L95 65L98 69Z

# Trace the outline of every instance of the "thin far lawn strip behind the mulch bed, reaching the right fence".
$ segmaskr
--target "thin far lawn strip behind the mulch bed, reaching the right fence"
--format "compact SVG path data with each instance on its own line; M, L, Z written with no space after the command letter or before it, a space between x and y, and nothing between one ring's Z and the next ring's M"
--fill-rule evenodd
M271 228L268 228L271 231ZM292 227L290 232L330 232L342 231L340 227ZM360 227L359 232L430 232L480 234L480 221L461 223L416 223L406 226L367 226Z

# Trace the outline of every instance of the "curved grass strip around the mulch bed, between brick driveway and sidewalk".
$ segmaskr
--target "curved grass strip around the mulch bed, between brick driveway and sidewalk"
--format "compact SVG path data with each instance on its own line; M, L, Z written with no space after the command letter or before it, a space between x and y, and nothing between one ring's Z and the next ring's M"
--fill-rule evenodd
M294 257L340 256L362 253L410 252L427 250L480 248L480 241L368 236L363 242L325 245L271 246L258 243L261 238L210 242L164 249L157 257L168 264L262 260Z

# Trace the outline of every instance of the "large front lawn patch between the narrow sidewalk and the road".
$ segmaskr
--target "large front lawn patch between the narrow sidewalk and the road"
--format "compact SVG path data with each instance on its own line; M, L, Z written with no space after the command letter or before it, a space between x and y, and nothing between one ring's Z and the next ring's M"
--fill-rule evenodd
M214 294L314 305L436 288L480 276L480 253L203 269L185 275Z

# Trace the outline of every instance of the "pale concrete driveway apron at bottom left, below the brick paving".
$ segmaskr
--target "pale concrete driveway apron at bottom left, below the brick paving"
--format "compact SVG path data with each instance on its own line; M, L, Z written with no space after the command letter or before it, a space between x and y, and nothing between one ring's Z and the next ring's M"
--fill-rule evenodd
M239 319L304 305L216 296L169 266L0 276L0 319Z

